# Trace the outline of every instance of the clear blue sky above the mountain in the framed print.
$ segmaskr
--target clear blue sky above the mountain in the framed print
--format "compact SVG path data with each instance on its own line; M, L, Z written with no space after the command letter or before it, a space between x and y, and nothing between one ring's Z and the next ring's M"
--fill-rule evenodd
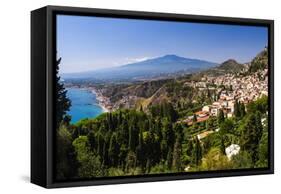
M244 63L267 46L267 28L89 16L57 16L60 73L82 72L176 54Z

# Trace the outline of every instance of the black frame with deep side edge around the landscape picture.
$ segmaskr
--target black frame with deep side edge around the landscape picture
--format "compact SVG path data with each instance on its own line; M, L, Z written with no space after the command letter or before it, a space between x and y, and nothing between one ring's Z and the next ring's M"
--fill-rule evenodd
M56 14L134 18L195 23L265 26L269 51L269 167L97 178L59 182L54 179ZM231 17L46 6L31 12L31 182L46 188L169 181L274 173L274 21Z

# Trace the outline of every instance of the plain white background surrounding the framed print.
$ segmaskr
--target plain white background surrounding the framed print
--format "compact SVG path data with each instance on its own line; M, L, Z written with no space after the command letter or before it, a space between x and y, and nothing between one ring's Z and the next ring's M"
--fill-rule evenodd
M46 190L29 183L30 11L65 5L275 20L275 175ZM280 37L278 0L3 0L0 11L0 193L278 193ZM279 180L278 180L279 179ZM279 185L278 185L279 183Z

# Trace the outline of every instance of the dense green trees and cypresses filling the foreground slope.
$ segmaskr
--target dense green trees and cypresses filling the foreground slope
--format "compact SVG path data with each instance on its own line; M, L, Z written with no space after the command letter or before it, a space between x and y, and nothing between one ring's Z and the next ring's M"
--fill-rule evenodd
M142 110L118 110L75 125L62 122L58 131L63 168L61 177L121 176L266 167L268 156L267 97L245 107L236 105L236 117L220 114L188 126L176 122L170 103ZM199 132L219 132L200 141ZM225 148L241 145L240 154L229 160ZM72 172L71 174L69 174Z

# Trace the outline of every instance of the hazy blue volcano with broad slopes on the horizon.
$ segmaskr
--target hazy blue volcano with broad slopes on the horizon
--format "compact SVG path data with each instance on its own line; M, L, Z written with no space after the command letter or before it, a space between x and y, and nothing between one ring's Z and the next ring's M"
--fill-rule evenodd
M118 67L81 73L63 74L62 78L65 80L138 80L168 76L178 73L195 73L216 67L217 65L217 63L199 59L189 59L177 55L165 55L162 57L148 59L145 61L126 64Z

